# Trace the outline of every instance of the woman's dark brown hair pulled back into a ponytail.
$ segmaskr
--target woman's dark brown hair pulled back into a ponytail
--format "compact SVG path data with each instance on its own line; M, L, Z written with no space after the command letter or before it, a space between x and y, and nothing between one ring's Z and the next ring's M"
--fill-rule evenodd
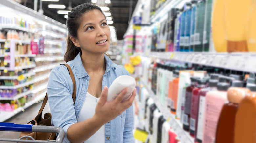
M67 51L64 55L64 60L66 62L73 60L79 52L82 52L81 48L76 47L74 43L70 40L70 36L77 38L77 31L80 26L82 16L85 13L93 10L99 10L103 14L100 7L94 4L89 4L89 3L84 3L75 8L72 8L71 12L68 13L68 18L66 22L67 29L68 29Z

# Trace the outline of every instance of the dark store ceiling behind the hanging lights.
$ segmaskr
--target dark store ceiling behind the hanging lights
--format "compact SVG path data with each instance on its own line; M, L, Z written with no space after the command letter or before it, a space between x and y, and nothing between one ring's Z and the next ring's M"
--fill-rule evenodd
M42 1L42 7L44 11L44 15L59 21L63 24L66 24L66 18L64 18L64 14L57 14L58 10L69 10L69 1L71 1L72 8L77 5L90 2L91 0L59 0L59 2L50 2L50 1ZM111 0L111 4L107 5L110 8L110 12L113 17L114 23L111 26L114 26L117 32L117 39L122 40L123 35L126 32L129 23L129 10L130 10L130 2L132 4L132 11L135 9L136 3L138 0ZM37 9L39 9L40 0L38 0ZM22 0L21 4L34 9L34 0ZM63 4L66 6L65 9L53 9L48 8L48 4Z

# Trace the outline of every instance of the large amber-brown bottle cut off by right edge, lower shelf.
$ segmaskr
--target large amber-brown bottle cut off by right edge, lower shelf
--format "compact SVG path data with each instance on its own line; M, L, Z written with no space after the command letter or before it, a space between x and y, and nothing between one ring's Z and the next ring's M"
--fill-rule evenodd
M239 103L235 119L234 143L256 142L256 92Z

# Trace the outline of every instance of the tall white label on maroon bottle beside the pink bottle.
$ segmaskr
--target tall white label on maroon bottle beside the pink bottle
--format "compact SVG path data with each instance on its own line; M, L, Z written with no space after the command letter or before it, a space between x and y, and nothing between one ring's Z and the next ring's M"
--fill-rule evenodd
M203 120L204 120L205 97L199 98L199 111L197 120L197 139L203 140Z

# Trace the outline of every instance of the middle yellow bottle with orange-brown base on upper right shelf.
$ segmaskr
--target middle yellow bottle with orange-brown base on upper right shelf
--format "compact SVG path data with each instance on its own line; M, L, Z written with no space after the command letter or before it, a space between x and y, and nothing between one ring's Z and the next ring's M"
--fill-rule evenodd
M225 0L225 28L227 31L227 52L247 52L246 26L253 0ZM239 11L237 8L239 7Z

